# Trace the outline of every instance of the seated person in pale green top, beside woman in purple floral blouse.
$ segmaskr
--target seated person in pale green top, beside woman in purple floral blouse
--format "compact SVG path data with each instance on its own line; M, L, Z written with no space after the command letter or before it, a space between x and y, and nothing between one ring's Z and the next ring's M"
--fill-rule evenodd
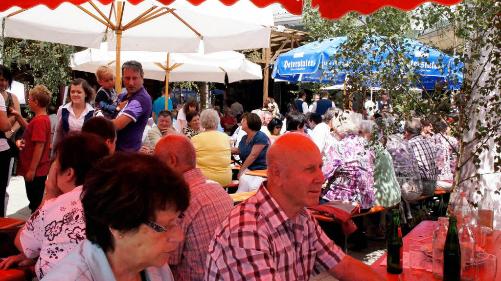
M377 125L372 120L362 120L358 134L370 141L374 137ZM383 145L376 141L374 145L374 204L381 207L390 207L400 202L400 185L398 185L393 161L390 153Z

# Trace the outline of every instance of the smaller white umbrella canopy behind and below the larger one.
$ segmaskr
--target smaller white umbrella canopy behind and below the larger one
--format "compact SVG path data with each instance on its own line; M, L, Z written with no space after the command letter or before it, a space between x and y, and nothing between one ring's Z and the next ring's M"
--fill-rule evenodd
M141 62L144 77L164 81L165 70L158 64L166 66L166 52L122 51L122 63L127 60ZM262 79L261 66L248 61L236 51L220 51L204 54L203 44L198 53L170 53L170 65L181 64L170 71L169 81L206 81L224 82L225 74L228 82L244 79ZM100 65L115 67L115 52L108 51L108 43L101 43L101 48L89 48L72 54L70 66L73 70L95 72Z

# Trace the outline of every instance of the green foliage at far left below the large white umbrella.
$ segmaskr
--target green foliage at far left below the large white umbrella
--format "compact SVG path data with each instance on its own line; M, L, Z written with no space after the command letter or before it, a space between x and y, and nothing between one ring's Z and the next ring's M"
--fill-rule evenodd
M26 78L21 74L15 79L29 87L44 84L53 93L59 93L60 85L71 82L72 70L68 65L75 51L70 45L6 37L2 59L5 65L18 67L22 74L28 75Z

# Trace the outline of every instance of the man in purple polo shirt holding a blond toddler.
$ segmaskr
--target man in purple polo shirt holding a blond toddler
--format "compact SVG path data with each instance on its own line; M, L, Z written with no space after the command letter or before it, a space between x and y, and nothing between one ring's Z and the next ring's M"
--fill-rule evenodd
M127 105L112 121L117 126L116 150L139 151L146 123L151 115L151 97L143 87L144 71L141 63L135 60L122 65L122 79L127 92L118 100L128 101Z

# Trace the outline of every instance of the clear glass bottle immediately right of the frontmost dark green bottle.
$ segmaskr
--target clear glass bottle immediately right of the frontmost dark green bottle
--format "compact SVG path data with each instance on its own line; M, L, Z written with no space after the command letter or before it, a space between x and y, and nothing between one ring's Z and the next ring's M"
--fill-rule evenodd
M469 228L469 217L463 217L459 229L459 245L461 247L461 280L471 281L475 278L475 239Z

